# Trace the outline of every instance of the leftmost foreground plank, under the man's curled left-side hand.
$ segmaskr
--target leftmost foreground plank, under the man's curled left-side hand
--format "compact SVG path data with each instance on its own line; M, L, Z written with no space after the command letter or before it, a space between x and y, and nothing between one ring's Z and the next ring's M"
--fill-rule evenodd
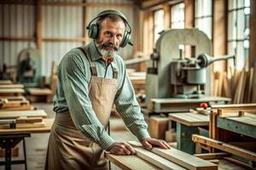
M124 170L154 170L160 169L148 161L144 161L137 156L116 156L105 152L104 156L108 161L113 162L116 166Z

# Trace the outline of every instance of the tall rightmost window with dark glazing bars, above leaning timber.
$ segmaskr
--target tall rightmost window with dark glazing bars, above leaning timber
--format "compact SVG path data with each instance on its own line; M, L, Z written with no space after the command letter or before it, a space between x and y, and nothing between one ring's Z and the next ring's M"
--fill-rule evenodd
M229 0L228 54L236 55L236 69L248 65L250 0Z

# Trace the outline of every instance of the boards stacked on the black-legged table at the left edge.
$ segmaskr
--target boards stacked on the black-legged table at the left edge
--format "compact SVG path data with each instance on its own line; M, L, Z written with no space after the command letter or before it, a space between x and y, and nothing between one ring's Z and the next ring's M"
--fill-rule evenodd
M45 127L43 118L46 116L43 110L0 111L0 128L10 128L10 121L15 122L16 128Z

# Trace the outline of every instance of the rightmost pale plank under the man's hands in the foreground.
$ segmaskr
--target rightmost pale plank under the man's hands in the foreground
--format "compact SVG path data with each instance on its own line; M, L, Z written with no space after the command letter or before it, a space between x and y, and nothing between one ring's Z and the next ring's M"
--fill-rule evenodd
M135 142L135 141L130 141L129 142L132 145L142 147L142 144ZM191 170L198 170L198 169L218 169L216 165L209 161L202 160L198 157L191 156L181 150L176 150L174 148L170 150L164 150L160 148L154 147L152 150L155 154L162 156L166 158L169 161L175 162L178 165L189 168Z

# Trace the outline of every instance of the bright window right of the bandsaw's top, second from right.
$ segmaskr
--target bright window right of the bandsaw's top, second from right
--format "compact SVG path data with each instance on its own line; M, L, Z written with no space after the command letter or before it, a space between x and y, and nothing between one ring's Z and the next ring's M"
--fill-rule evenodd
M195 0L195 27L212 39L212 0Z

